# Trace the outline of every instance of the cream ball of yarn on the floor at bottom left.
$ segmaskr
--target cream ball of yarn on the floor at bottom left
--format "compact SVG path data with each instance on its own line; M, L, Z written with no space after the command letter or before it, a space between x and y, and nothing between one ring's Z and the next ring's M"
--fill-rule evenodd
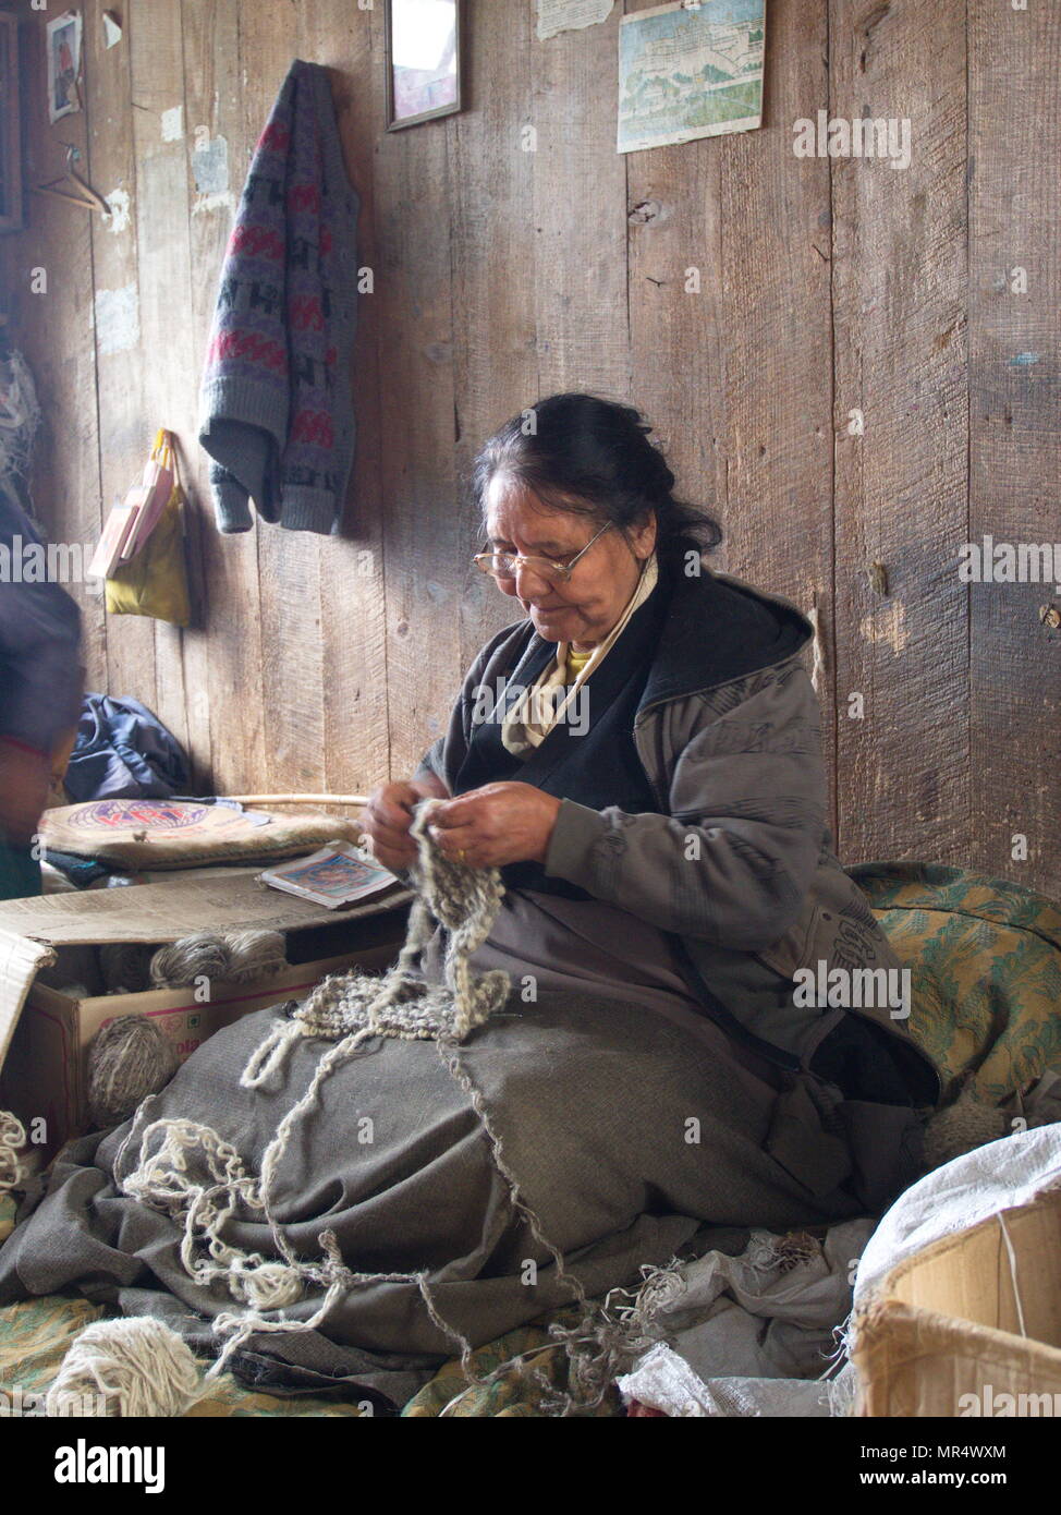
M95 1321L74 1341L48 1389L48 1415L183 1415L200 1371L186 1344L150 1315Z

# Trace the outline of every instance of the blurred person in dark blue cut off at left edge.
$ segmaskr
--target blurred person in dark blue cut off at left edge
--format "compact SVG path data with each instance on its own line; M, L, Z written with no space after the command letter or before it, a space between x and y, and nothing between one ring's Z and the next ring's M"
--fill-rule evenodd
M54 750L77 726L85 671L80 611L58 583L24 583L12 562L41 535L0 486L0 898L41 892L33 838Z

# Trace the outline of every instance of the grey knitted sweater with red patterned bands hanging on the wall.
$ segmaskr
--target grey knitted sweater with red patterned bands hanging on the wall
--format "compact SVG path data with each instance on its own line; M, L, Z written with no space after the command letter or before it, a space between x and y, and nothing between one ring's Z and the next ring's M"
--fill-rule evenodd
M218 530L339 530L354 461L350 351L360 200L327 71L295 61L229 238L200 391Z

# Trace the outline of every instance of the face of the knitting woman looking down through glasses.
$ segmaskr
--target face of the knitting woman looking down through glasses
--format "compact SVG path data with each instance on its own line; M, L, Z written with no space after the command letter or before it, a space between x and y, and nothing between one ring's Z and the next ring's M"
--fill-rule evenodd
M598 529L593 517L546 509L525 485L504 474L490 480L486 530L495 551L568 562ZM571 642L577 650L595 647L625 611L654 547L655 517L627 536L613 526L575 564L566 583L552 583L519 565L515 579L498 579L498 588L519 600L546 642Z

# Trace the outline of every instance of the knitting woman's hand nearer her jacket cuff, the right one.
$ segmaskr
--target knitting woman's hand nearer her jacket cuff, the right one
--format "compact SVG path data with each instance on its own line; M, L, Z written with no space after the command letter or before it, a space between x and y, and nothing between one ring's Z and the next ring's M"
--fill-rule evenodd
M545 862L560 800L531 783L484 783L437 806L431 835L472 868Z

